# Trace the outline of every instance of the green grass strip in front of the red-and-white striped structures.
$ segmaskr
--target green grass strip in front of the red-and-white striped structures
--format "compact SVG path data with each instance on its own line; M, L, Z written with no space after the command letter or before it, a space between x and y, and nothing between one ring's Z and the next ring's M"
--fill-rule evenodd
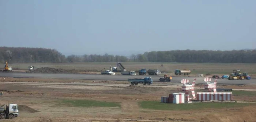
M191 103L191 104L172 104L161 103L159 101L142 101L139 105L143 109L155 109L155 110L201 110L201 109L221 109L221 108L233 108L244 107L249 105L256 105L256 103L236 103L236 102L204 102L204 103Z

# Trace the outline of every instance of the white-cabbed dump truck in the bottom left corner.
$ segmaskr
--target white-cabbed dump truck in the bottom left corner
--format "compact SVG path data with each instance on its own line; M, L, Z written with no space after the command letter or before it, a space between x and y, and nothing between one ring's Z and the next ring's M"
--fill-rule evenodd
M17 104L8 104L0 107L0 119L13 119L18 117L19 109Z

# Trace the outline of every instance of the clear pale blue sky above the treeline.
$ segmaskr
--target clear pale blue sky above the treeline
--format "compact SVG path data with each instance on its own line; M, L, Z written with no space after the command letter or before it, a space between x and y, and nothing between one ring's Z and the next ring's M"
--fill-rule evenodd
M0 0L0 46L69 54L256 48L256 0Z

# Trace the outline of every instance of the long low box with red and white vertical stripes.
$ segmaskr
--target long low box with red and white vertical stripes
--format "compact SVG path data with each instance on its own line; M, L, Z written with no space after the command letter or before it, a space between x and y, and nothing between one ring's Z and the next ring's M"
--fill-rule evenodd
M198 92L196 93L198 101L231 101L232 92Z

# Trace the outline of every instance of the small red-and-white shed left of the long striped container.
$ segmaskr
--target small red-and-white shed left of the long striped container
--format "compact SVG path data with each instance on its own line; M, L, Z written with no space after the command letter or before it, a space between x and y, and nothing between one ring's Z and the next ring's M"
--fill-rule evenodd
M174 104L185 103L184 93L169 94L169 103L174 103Z

